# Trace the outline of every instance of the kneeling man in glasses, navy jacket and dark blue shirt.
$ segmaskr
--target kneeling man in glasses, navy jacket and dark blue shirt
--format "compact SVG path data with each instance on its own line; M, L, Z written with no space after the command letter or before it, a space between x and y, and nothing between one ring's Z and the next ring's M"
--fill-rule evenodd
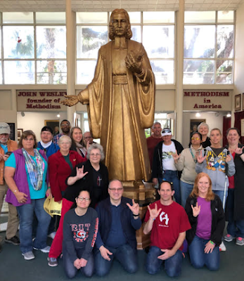
M108 185L109 197L98 204L99 228L96 239L95 271L98 276L109 273L113 259L124 270L135 273L138 268L136 230L141 227L139 204L122 197L124 188L117 180Z

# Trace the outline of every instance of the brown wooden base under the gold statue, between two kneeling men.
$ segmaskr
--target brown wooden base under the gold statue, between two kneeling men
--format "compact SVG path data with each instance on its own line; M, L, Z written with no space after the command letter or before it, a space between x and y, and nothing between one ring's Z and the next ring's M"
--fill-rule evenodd
M156 190L153 188L153 183L146 182L123 182L124 197L136 200L140 206L140 218L146 215L148 205L155 201ZM145 249L150 245L150 235L143 233L143 226L136 231L137 249Z

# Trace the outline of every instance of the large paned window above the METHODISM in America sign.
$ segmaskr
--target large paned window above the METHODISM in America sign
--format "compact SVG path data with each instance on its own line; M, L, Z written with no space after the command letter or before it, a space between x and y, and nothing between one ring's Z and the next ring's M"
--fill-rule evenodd
M233 11L185 12L184 84L233 83Z

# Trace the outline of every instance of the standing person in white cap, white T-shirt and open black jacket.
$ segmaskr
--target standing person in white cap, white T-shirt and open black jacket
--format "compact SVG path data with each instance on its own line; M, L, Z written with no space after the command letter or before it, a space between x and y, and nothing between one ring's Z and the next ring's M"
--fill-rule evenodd
M173 183L174 198L178 204L181 204L181 190L178 171L174 166L172 155L176 152L180 155L183 149L179 141L172 140L172 131L169 128L165 128L162 130L162 141L155 147L153 154L153 183L158 185L163 180Z

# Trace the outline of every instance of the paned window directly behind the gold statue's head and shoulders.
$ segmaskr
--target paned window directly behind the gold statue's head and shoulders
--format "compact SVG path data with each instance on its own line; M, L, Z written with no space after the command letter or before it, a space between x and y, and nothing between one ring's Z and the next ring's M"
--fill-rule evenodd
M174 12L129 12L132 40L143 43L156 84L174 84ZM76 13L77 84L94 77L99 48L108 43L110 13Z

